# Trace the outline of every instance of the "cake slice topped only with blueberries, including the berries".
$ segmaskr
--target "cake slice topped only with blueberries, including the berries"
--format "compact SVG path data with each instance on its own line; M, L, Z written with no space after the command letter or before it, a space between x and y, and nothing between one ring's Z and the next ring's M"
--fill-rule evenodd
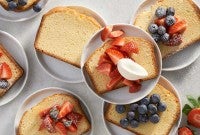
M180 117L176 95L157 84L149 96L129 105L108 104L105 119L139 135L169 135Z

